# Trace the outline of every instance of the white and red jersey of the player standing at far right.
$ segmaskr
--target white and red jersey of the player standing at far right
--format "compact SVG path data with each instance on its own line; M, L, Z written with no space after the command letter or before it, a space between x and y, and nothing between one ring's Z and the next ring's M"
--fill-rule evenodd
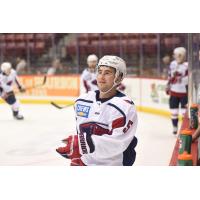
M175 60L172 61L169 66L168 80L172 96L187 95L188 63L178 64Z

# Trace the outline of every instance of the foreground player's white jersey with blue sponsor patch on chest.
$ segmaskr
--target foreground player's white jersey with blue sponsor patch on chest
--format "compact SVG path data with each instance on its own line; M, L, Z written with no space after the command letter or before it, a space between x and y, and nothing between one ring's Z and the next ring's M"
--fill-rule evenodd
M132 165L135 160L137 113L133 102L117 92L110 99L99 91L81 95L75 103L81 160L86 165Z

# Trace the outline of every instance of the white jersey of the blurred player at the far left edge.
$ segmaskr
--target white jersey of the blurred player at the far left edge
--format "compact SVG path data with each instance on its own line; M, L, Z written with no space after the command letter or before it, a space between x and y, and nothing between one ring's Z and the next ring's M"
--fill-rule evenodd
M13 84L16 83L18 88L21 87L18 81L17 73L14 69L11 70L11 73L7 76L3 72L0 73L0 92L8 93L13 91Z

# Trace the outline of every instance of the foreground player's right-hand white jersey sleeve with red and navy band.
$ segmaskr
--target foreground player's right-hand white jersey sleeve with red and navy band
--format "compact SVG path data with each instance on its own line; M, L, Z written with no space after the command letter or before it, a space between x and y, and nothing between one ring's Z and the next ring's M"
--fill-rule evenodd
M103 136L96 134L91 136L94 152L83 154L81 157L86 164L87 160L105 163L115 156L122 155L135 136L138 118L134 105L131 105L124 115L120 113L117 115L117 112L110 115L113 120L109 124L109 132Z

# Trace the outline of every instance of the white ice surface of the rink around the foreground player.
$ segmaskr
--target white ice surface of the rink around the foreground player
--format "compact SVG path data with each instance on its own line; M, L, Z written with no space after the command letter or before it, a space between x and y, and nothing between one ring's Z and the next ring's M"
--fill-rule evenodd
M76 132L73 107L22 105L23 121L14 120L6 104L0 104L0 112L0 165L69 165L55 149ZM170 119L146 113L138 116L135 165L168 165L176 141Z

